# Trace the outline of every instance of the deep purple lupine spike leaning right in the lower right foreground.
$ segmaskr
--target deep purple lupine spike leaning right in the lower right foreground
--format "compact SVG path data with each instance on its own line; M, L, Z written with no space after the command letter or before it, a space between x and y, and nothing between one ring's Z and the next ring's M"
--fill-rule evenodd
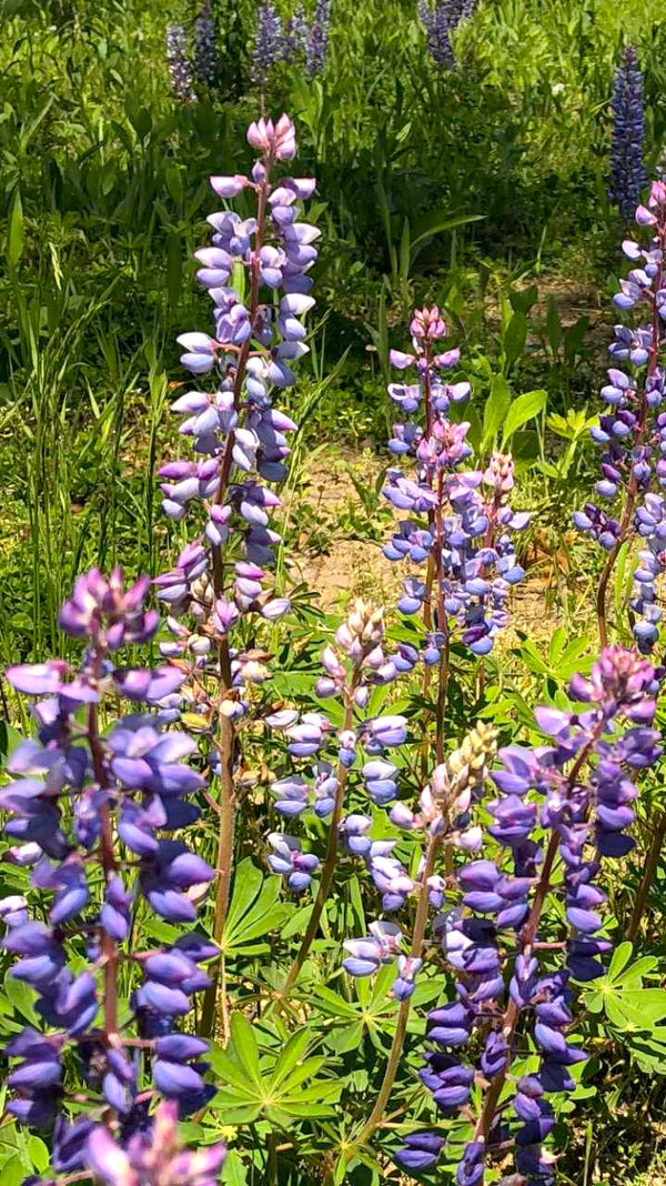
M588 1057L566 1038L574 1020L570 980L589 982L603 974L601 957L610 944L600 937L598 907L607 895L595 882L604 857L632 848L626 829L638 795L633 776L660 753L651 727L657 690L649 662L608 648L589 680L571 682L570 696L584 704L582 712L537 709L550 744L500 751L502 767L491 776L499 797L487 804L494 821L488 834L499 848L494 859L457 871L462 904L438 920L444 958L457 976L456 997L429 1015L431 1048L421 1072L444 1117L467 1115L474 1084L481 1090L459 1186L482 1182L493 1147L501 1146L505 1156L512 1141L520 1182L553 1180L555 1159L543 1148L555 1124L547 1096L574 1090L570 1067ZM534 829L545 831L543 847ZM563 900L562 945L539 938L551 895ZM558 949L562 967L553 965ZM526 1027L532 1034L540 1061L536 1072L515 1080L511 1066L519 1056L519 1026L521 1034ZM461 1057L472 1035L481 1047L478 1066ZM507 1084L512 1093L499 1107ZM408 1168L429 1168L443 1144L437 1134L416 1134L399 1160Z

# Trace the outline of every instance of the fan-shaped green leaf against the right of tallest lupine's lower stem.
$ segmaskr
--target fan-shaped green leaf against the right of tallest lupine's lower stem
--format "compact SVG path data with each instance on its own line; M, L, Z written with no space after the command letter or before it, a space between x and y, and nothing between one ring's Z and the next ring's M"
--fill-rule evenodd
M233 879L231 904L220 943L226 956L262 955L270 951L267 942L257 943L270 931L281 929L296 907L280 900L280 878L267 878L250 857L241 861Z

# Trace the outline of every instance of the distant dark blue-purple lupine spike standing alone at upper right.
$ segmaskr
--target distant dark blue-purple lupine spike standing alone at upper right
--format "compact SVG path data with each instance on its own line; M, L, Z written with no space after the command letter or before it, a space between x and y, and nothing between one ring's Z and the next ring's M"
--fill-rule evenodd
M645 110L642 74L633 45L627 45L613 83L613 140L608 196L630 219L646 184L642 161Z

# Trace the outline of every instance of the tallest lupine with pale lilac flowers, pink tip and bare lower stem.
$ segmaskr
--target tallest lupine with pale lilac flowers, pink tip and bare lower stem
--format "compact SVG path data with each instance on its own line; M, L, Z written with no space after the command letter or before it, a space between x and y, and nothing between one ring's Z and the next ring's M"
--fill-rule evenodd
M192 439L197 459L160 470L166 515L179 521L193 511L201 534L155 581L173 635L162 651L190 677L187 703L207 733L211 766L220 779L217 939L232 866L236 731L248 709L246 689L268 678L270 657L256 648L243 650L235 639L249 618L274 621L289 610L267 573L280 542L269 518L280 498L267 483L287 476L287 434L296 425L273 407L271 391L295 383L292 365L308 351L301 318L314 305L309 272L319 236L299 218L314 180L275 177L296 154L292 121L262 119L250 126L248 141L258 153L250 176L211 177L211 187L225 199L254 193L256 216L210 215L212 246L197 251L197 279L213 301L214 337L178 339L182 365L216 380L213 390L187 391L172 404L185 417L180 433ZM237 266L246 274L245 296L230 282Z

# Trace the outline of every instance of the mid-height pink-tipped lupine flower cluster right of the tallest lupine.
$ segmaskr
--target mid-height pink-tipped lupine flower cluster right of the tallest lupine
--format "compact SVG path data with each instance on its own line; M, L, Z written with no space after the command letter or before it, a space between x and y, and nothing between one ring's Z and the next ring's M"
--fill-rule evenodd
M460 351L436 353L447 329L438 308L418 310L411 321L412 350L392 350L399 370L414 368L415 383L390 383L389 395L398 409L415 417L393 426L389 448L396 457L416 461L414 476L391 468L384 496L410 517L398 524L384 555L391 561L427 563L424 578L409 578L398 608L422 613L427 638L423 662L433 667L448 661L452 630L474 655L487 655L507 620L506 599L524 576L517 561L513 533L523 530L529 515L510 505L513 489L511 457L493 454L485 470L462 470L472 454L467 422L448 419L453 403L469 396L469 383L448 383L444 375L456 366ZM416 416L420 419L416 419ZM441 758L441 754L438 754Z

